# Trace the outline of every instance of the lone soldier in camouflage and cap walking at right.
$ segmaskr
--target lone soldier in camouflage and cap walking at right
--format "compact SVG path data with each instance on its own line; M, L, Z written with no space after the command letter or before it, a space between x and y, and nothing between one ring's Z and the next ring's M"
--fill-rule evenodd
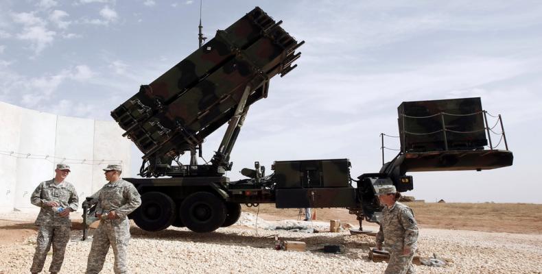
M408 206L397 202L400 194L395 186L381 186L378 199L384 205L380 229L377 233L377 249L382 249L382 242L390 251L390 262L385 274L414 273L412 258L418 240L418 225L414 212Z

